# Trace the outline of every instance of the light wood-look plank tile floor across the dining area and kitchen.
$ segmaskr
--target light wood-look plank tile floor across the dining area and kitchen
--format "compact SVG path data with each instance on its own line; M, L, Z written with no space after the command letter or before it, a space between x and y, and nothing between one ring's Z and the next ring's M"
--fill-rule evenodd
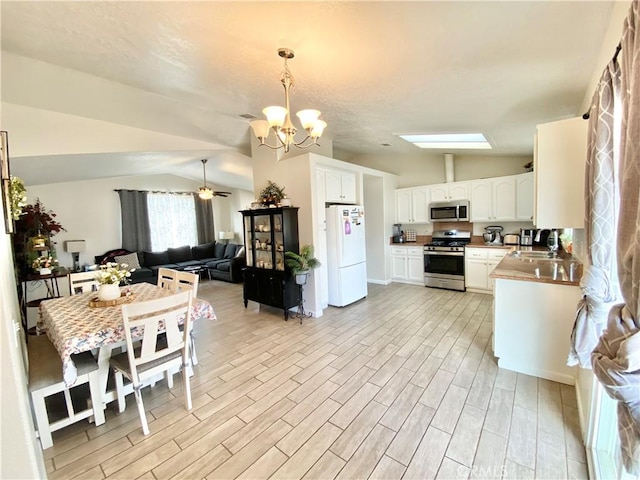
M49 477L587 478L573 387L497 367L492 297L369 285L302 325L205 281L193 410L181 383L54 434Z

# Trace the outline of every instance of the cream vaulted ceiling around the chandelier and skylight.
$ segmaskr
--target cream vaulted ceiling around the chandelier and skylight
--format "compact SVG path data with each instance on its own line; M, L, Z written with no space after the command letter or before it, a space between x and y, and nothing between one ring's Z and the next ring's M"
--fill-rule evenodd
M536 124L579 113L612 5L3 1L2 100L203 142L210 149L145 152L139 162L116 152L110 162L198 179L204 155L209 178L250 188L241 115L283 103L277 49L288 47L292 110L322 111L335 158L388 155L401 174L403 156L425 153L394 134L423 131L479 131L491 155L530 155ZM29 79L22 58L64 67L68 80ZM55 161L75 162L78 177L103 174L97 152L60 153ZM33 155L15 168L28 177L50 161ZM216 173L225 162L233 175Z

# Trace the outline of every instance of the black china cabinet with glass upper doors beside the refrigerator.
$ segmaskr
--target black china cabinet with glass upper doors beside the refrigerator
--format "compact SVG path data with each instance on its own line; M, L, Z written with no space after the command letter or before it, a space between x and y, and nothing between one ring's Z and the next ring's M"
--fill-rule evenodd
M249 300L284 310L298 305L300 289L284 265L287 251L299 252L298 207L241 211L247 266L244 306Z

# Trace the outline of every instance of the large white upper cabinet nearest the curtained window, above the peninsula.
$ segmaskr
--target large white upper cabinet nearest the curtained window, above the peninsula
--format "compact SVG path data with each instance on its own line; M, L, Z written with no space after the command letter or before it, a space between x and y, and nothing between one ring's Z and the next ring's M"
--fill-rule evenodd
M576 117L538 125L533 221L538 228L584 228L588 123Z

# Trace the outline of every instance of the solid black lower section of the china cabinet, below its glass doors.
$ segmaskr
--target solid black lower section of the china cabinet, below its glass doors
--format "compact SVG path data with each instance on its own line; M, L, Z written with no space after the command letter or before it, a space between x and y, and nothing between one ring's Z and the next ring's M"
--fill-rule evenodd
M250 268L244 270L244 306L249 300L284 310L289 318L289 309L298 305L300 287L286 272Z

